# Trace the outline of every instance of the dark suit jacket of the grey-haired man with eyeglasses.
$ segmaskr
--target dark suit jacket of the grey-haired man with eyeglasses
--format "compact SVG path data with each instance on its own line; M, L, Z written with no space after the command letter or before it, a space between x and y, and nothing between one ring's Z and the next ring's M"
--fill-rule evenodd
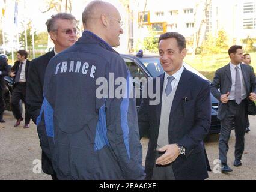
M29 66L28 82L26 83L26 103L28 104L28 113L31 115L31 118L35 124L37 117L40 115L40 110L43 103L44 73L50 59L53 58L53 56L55 56L54 50L32 60ZM40 127L37 127L37 131L45 130L41 130ZM46 152L42 152L42 169L44 173L53 175L54 171L52 168L52 163L46 154Z

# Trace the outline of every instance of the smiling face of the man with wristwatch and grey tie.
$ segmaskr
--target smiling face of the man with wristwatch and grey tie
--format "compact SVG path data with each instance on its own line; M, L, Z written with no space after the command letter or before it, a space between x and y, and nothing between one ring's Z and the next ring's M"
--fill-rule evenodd
M180 50L175 38L161 40L159 43L159 56L163 70L169 75L176 73L183 64L187 50Z

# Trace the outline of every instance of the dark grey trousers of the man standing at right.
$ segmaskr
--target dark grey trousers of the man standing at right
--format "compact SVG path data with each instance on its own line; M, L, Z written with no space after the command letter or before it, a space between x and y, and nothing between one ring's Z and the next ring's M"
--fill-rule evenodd
M228 140L233 122L236 132L235 159L241 160L242 158L245 149L246 108L246 100L242 100L239 105L234 100L228 102L227 115L221 121L221 136L219 137L219 159L222 163L227 164Z

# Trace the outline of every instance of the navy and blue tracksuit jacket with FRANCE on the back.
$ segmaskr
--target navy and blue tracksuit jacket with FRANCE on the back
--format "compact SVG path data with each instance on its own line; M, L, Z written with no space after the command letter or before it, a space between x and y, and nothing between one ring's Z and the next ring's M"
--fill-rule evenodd
M118 87L111 73L130 77L118 53L90 31L49 62L37 125L58 179L144 179L135 100L110 97ZM96 85L99 77L108 82ZM126 94L132 89L127 83ZM97 90L108 94L97 98Z

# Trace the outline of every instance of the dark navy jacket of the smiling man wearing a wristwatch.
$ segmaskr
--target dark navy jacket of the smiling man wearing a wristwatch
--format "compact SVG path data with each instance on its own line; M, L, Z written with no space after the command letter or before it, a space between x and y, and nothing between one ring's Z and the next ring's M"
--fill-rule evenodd
M146 132L149 133L145 163L146 179L152 178L153 167L156 162L164 74L160 76L160 79L161 103L157 106L150 106L150 99L144 99L138 112L141 137ZM154 81L156 80L154 79ZM183 99L186 97L187 102ZM209 83L185 68L175 93L169 119L169 144L177 143L186 148L186 155L180 155L172 163L176 179L206 179L208 177L208 162L206 162L203 140L209 132L210 121Z

